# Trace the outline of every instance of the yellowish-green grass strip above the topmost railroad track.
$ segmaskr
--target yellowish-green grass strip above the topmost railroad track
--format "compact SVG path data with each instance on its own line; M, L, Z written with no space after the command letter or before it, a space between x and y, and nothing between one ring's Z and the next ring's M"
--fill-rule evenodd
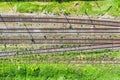
M6 6L7 5L7 6ZM1 2L0 9L8 10L8 4ZM72 2L13 2L13 7L20 13L40 12L44 14L54 15L111 15L120 16L120 1L119 0L104 0L104 1L72 1ZM6 9L4 9L6 8Z

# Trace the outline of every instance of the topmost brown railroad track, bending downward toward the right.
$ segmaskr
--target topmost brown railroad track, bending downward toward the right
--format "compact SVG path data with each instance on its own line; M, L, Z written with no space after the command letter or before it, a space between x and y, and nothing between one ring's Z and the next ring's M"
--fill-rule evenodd
M71 23L120 27L120 21L80 19L80 18L53 18L53 17L26 17L26 16L3 16L0 22L39 22L39 23Z

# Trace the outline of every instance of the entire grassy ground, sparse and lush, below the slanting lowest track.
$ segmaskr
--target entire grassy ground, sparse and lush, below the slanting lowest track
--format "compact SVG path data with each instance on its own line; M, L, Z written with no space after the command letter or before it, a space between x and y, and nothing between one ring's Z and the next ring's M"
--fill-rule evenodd
M120 50L64 52L0 59L0 80L119 80L120 65L71 64L80 60L118 60ZM105 59L103 56L110 58Z

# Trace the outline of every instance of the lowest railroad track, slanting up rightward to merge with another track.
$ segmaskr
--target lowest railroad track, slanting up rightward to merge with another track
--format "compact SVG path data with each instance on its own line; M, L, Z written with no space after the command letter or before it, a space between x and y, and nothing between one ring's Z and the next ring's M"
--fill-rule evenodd
M64 47L64 48L43 48L43 49L32 49L32 50L11 50L11 51L0 51L0 57L5 58L7 56L19 56L19 55L30 55L30 54L48 54L48 53L60 53L60 52L72 52L72 51L90 51L90 50L104 50L104 49L120 49L120 45L106 44L106 45L92 45L92 46L81 46L81 47Z

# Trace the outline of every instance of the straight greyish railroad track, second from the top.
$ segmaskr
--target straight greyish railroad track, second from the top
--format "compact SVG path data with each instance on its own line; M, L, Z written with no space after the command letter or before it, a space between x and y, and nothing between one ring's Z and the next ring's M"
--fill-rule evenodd
M29 32L28 32L29 31ZM0 33L120 33L120 28L0 28Z

